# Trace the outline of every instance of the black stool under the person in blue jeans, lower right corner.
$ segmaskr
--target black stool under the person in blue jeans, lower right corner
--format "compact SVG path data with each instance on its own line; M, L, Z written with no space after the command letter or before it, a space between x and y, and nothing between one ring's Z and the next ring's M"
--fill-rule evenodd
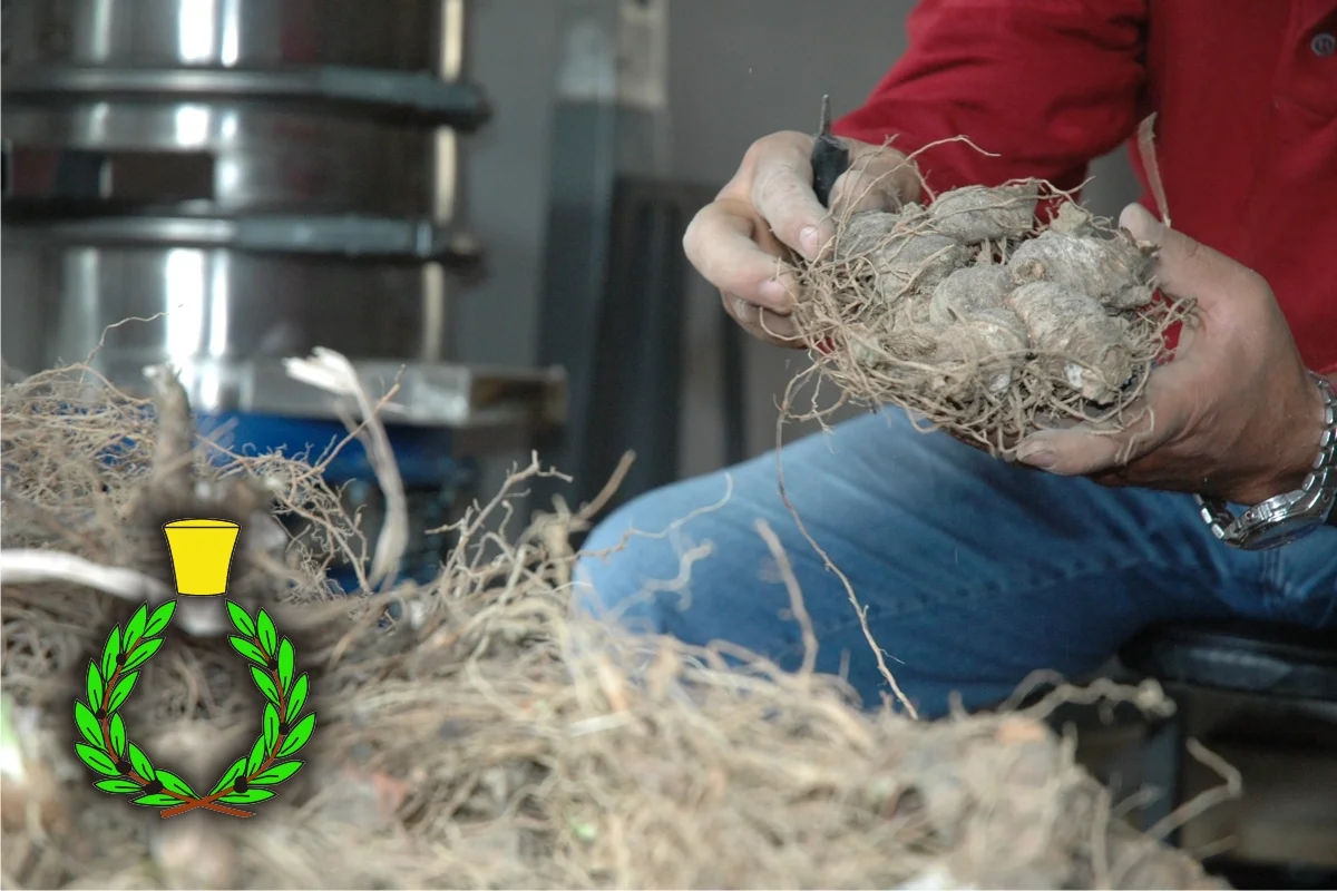
M1278 709L1285 703L1337 703L1337 632L1247 621L1166 622L1152 625L1119 651L1119 661L1142 677L1163 684L1265 696ZM1161 789L1142 811L1143 828L1167 818L1182 801L1189 703L1178 697L1175 713L1147 729L1142 781ZM1313 736L1297 720L1267 728L1275 744ZM1290 732L1292 739L1284 739ZM1167 836L1178 842L1178 831ZM1280 879L1278 879L1280 882ZM1274 884L1271 887L1285 887Z

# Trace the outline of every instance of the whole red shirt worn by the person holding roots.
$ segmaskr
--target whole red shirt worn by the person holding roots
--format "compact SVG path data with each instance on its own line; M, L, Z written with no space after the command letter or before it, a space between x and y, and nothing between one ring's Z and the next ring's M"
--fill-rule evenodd
M1154 111L1175 228L1263 275L1309 367L1337 371L1337 0L921 0L906 28L837 132L997 154L925 151L933 191L1067 190Z

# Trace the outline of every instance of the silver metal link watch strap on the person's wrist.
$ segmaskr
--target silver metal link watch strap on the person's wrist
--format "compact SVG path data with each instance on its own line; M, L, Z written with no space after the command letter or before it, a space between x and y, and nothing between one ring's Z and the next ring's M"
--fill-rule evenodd
M1246 530L1257 529L1259 524L1267 521L1281 521L1296 514L1313 516L1314 529L1322 526L1325 520L1329 525L1337 525L1337 506L1334 506L1337 505L1337 393L1322 375L1313 371L1310 375L1317 382L1324 398L1324 431L1318 438L1318 456L1301 488L1257 504L1238 517L1221 498L1194 496L1211 534L1226 544L1245 549L1285 544L1282 540L1251 545Z

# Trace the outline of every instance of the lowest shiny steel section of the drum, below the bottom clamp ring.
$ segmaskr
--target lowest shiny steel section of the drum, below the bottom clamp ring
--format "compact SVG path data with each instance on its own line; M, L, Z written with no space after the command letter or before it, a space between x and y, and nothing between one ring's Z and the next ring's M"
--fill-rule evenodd
M316 346L349 358L447 358L444 274L431 264L60 246L9 230L0 244L0 353L28 373L80 362L95 349L98 369L132 387L156 362L189 374Z

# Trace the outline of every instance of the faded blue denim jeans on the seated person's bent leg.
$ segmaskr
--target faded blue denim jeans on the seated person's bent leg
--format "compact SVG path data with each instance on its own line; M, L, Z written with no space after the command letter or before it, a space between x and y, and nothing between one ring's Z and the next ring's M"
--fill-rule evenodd
M924 716L943 715L953 691L980 708L1035 669L1091 672L1150 622L1337 625L1337 528L1277 550L1235 550L1211 537L1189 496L1004 464L923 434L900 411L787 445L783 469L790 501L849 577L888 668ZM654 537L586 557L578 597L634 631L727 640L797 668L800 625L758 518L802 586L817 669L844 673L878 705L889 687L844 586L781 501L774 453L614 512L586 552L616 546L630 529ZM707 544L685 573L683 554Z

